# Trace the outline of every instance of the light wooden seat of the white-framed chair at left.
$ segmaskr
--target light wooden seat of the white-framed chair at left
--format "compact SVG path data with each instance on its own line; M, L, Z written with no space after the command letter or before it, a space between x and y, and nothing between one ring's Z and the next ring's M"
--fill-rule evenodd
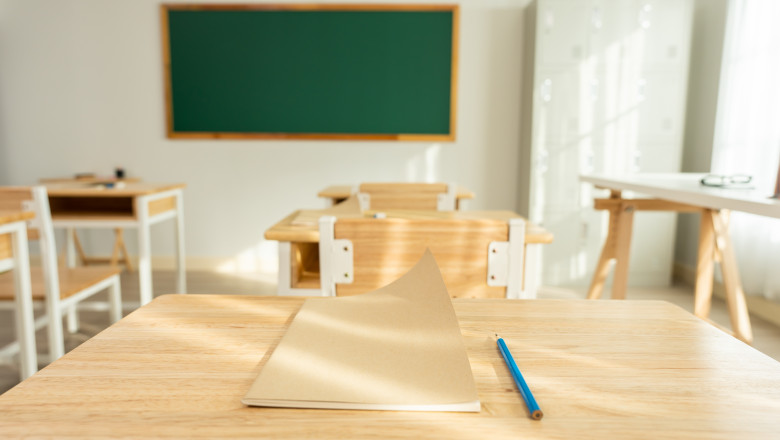
M76 293L106 280L120 272L117 267L91 266L61 268L58 270L60 278L60 299L69 298ZM43 282L43 268L30 267L33 299L43 301L46 298ZM0 274L0 300L14 299L14 281L11 271Z

